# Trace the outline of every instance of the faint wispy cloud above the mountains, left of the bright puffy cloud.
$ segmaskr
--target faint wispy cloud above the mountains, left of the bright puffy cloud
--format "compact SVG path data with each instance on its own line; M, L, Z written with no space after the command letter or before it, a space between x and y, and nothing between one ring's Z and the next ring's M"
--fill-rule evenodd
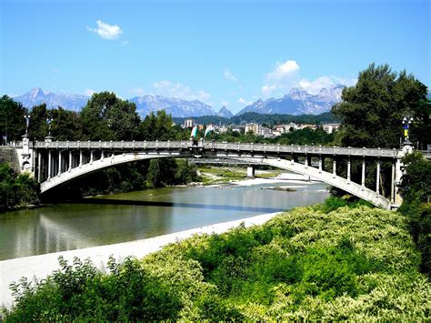
M199 100L209 104L210 95L203 90L192 91L189 86L182 83L172 83L170 81L155 82L153 85L155 94L159 96L178 97L187 101Z

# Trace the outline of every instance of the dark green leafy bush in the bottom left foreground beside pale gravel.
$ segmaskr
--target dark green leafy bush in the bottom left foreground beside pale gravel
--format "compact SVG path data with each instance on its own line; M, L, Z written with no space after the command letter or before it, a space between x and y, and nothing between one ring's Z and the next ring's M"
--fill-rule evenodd
M7 320L161 320L177 318L182 308L178 295L135 259L110 258L108 275L89 260L68 265L60 257L59 263L35 288L25 281L12 286L16 305Z

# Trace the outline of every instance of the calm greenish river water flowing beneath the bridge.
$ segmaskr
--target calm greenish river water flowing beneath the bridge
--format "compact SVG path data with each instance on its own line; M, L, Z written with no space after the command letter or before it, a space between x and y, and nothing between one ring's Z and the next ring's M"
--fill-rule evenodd
M267 187L292 187L295 192ZM0 214L0 260L156 237L322 202L326 184L165 187Z

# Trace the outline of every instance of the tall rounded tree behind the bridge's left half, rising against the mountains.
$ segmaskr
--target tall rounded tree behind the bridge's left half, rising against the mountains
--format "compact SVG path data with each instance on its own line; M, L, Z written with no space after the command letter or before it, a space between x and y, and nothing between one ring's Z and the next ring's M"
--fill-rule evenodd
M134 103L114 92L95 93L81 111L84 135L90 140L133 140L140 118Z

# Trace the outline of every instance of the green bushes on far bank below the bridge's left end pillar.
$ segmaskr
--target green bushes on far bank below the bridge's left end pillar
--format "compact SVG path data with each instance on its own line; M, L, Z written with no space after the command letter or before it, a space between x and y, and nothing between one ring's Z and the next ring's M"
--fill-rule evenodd
M0 207L21 207L38 202L38 185L28 174L17 175L8 164L0 164Z

